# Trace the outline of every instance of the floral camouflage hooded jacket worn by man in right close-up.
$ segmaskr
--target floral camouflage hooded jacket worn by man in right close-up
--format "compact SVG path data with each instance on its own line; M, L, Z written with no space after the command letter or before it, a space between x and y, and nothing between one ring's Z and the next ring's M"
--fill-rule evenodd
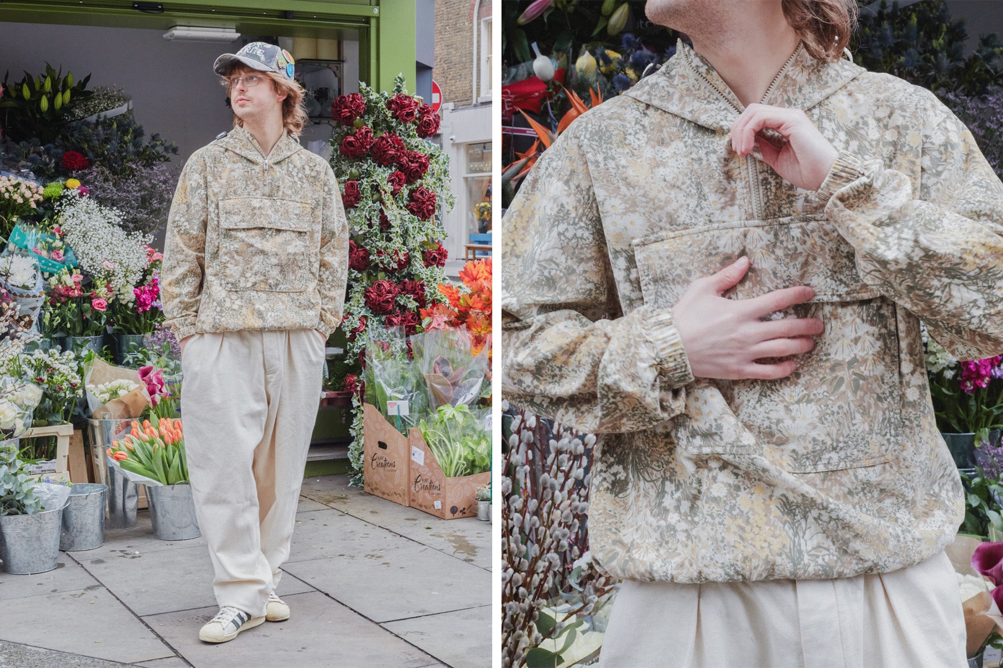
M728 131L743 108L676 55L573 122L505 217L503 390L601 435L589 542L615 577L834 578L953 540L961 481L920 336L1003 353L1003 183L930 91L798 44L763 97L840 154L818 191ZM671 306L740 255L725 296L796 284L825 330L778 381L694 379Z

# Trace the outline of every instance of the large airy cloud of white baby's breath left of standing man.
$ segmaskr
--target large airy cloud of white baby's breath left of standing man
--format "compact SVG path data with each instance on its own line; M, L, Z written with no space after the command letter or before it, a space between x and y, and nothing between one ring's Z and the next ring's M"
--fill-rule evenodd
M146 269L150 237L122 229L121 212L102 206L70 189L59 198L63 238L73 249L80 268L92 276L106 276L123 303L132 303L132 288Z

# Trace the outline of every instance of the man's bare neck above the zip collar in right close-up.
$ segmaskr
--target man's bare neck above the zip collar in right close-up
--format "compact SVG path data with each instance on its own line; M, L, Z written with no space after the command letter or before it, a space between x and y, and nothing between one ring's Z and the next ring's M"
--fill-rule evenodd
M749 3L757 5L759 3ZM779 8L779 3L776 7ZM749 11L707 38L689 35L693 50L714 67L743 106L759 102L797 47L798 35L782 13Z

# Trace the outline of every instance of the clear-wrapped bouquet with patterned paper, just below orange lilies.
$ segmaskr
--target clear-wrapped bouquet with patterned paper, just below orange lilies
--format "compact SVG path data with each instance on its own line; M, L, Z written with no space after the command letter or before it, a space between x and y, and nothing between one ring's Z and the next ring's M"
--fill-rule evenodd
M428 392L428 408L472 406L487 373L487 347L473 355L466 328L429 329L411 337L414 362Z

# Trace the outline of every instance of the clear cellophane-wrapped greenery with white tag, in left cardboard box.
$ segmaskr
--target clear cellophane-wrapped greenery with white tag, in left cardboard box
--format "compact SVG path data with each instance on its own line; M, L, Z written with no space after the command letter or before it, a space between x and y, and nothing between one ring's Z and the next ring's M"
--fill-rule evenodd
M366 330L366 403L404 436L428 411L424 381L408 357L402 327Z

